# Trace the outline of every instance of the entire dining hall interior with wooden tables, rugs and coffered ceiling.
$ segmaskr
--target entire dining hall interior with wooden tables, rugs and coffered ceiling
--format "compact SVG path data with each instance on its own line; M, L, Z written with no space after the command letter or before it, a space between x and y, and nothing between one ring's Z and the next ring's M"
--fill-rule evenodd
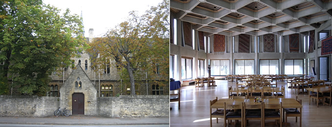
M170 0L170 127L331 127L331 0Z

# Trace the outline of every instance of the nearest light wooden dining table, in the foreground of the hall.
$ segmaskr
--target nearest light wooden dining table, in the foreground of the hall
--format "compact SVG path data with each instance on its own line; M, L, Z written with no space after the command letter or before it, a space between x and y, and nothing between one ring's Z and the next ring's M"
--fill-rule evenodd
M214 103L213 105L211 105L211 108L215 109L223 109L224 108L224 102L226 102L226 104L241 104L242 102L244 102L245 99L219 99L216 103ZM247 99L248 100L248 99ZM246 105L255 105L255 104L260 104L261 102L254 102L254 99L249 99L249 102L244 102ZM265 105L273 105L273 104L280 104L280 102L282 102L282 108L298 108L300 109L300 127L302 125L302 105L297 102L294 98L271 98L269 99L269 102L264 102ZM288 124L288 123L286 123Z

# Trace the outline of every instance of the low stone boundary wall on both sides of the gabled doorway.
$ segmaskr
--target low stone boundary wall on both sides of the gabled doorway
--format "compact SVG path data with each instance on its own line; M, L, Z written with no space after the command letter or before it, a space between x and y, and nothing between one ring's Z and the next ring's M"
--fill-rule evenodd
M60 97L0 95L0 116L53 116L59 107ZM95 108L105 117L169 117L169 95L97 97Z

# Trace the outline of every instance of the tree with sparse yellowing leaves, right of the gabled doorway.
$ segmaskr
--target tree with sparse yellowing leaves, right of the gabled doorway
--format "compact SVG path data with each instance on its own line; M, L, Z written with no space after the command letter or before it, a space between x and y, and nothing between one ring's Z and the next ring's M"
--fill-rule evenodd
M169 1L164 0L157 7L151 7L143 16L135 11L129 13L129 19L110 29L104 37L96 38L90 43L90 54L97 57L95 65L101 65L108 59L122 69L122 78L129 79L130 91L135 95L135 79L167 79L168 82L168 50L169 50ZM163 66L163 74L152 76L154 63ZM154 78L155 77L155 78ZM126 80L125 80L126 81ZM137 80L139 81L139 80ZM166 80L163 80L166 82Z

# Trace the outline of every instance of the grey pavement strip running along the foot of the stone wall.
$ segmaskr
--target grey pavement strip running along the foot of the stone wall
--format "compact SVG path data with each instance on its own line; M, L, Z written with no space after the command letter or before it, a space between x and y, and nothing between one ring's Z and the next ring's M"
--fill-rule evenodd
M168 117L109 118L97 116L1 117L0 124L169 125Z

